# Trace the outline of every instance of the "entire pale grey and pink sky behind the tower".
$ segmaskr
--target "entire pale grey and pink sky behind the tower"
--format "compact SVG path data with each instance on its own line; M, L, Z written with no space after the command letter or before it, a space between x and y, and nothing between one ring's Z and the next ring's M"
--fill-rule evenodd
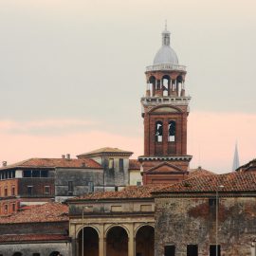
M0 161L100 147L143 155L140 97L161 46L187 66L191 168L256 157L254 0L1 0Z

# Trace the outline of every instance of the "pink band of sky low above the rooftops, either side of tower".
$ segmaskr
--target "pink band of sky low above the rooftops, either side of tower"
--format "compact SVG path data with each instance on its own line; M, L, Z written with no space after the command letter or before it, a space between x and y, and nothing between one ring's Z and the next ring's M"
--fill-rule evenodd
M0 122L0 160L9 163L29 157L61 157L63 154L82 154L97 148L109 146L130 150L133 157L143 155L143 137L118 135L103 130L95 130L91 122L62 119L58 122L42 120L27 122L27 127L61 127L62 125L84 125L86 131L67 134L30 135L12 133L9 128L17 128L19 122ZM143 127L141 126L141 130ZM15 130L15 129L14 129ZM188 119L188 154L193 155L191 167L201 165L213 172L230 171L234 145L238 141L240 164L256 156L256 115L243 113L192 112Z

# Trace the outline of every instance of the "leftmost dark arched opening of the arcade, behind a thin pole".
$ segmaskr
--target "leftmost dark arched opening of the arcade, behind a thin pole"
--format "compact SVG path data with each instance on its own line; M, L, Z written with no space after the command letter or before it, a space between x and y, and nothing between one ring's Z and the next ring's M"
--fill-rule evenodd
M78 234L79 256L99 256L99 234L92 227L85 227Z

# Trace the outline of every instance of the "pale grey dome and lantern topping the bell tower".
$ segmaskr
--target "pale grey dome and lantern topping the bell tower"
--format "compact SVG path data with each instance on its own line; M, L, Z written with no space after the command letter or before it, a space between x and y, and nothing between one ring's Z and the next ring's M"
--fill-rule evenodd
M170 46L170 32L165 27L162 32L162 46L155 54L155 64L178 64L178 58L174 49Z

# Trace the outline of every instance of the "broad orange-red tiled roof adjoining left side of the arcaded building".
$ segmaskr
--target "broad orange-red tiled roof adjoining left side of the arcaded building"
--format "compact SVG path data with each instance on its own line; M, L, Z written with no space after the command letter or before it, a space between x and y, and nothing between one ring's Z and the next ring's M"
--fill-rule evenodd
M46 203L0 217L0 224L68 221L68 207L60 203Z

